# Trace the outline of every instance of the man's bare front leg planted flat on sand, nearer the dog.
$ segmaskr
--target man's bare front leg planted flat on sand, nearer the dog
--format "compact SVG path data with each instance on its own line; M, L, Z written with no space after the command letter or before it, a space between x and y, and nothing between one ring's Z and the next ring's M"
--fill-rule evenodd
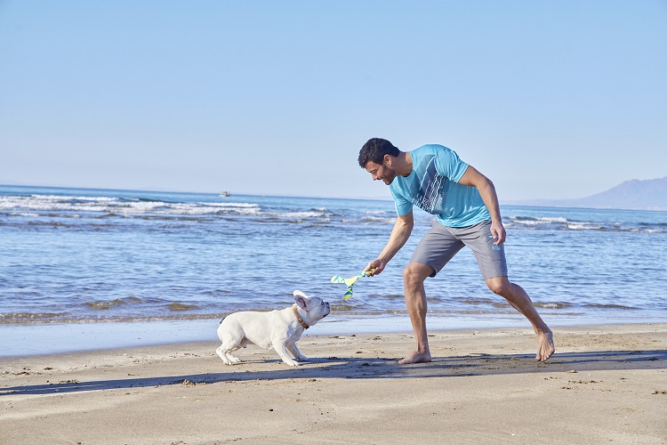
M430 266L420 263L408 263L403 271L403 283L406 291L407 313L413 324L417 347L405 359L398 363L423 363L430 361L429 336L426 333L426 291L424 280L433 273Z

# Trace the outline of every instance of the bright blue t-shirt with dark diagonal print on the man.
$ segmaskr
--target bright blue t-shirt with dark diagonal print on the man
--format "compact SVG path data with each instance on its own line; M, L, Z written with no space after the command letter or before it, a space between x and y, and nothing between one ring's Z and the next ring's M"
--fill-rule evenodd
M459 183L468 169L454 150L430 144L408 151L413 171L390 184L396 213L408 214L418 206L447 227L466 227L491 219L479 191Z

